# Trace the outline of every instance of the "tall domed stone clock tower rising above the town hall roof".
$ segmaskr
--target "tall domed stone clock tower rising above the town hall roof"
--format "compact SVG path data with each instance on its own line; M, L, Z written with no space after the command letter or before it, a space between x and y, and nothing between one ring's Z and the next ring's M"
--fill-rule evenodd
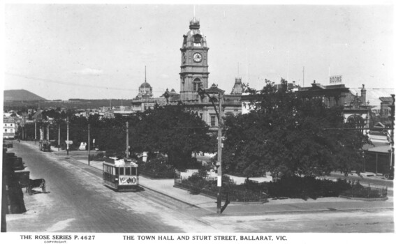
M180 100L195 102L199 100L198 88L207 89L207 51L206 38L200 31L196 17L190 21L190 30L183 35L182 66L180 66Z

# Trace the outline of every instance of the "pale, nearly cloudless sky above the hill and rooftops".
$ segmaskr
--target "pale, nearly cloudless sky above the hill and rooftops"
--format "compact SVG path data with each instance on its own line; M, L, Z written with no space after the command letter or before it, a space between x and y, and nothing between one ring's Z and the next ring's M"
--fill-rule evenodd
M49 100L131 99L180 90L183 35L196 16L207 40L209 85L235 77L358 89L394 88L394 6L11 4L4 6L3 89ZM304 70L304 71L303 71ZM393 92L394 93L394 92Z

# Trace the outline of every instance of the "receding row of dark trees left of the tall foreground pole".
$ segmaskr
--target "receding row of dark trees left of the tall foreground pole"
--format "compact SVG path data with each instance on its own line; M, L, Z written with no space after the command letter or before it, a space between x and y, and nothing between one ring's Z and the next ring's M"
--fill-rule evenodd
M89 116L69 116L69 140L73 145L87 142L89 136L95 139L99 150L115 155L125 155L126 122L129 123L129 146L131 154L148 151L149 155L163 153L168 155L169 162L177 168L183 168L191 161L191 154L200 151L214 151L215 139L212 139L210 128L196 113L188 112L183 106L156 106L145 112L130 116L116 116L114 119L100 118L98 114ZM45 127L46 121L38 122ZM60 125L60 126L59 126ZM67 138L66 120L58 117L50 125L50 139L58 139L60 129L61 144ZM27 135L34 137L34 124L25 127ZM39 137L38 132L37 137ZM93 146L91 141L91 146Z

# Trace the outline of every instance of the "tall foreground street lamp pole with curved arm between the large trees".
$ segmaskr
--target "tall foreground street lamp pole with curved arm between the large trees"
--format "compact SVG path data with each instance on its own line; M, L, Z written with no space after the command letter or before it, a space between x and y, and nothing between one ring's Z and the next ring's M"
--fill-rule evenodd
M217 132L217 213L221 213L221 117L222 115L222 100L223 100L223 91L221 89L218 89L217 86L214 84L210 89L205 90L202 88L198 88L198 95L200 96L201 99L203 99L205 96L207 96L212 102L212 105L214 107L214 112L216 112L217 116L217 121L219 121L218 124L218 132ZM219 100L219 112L217 112L217 107L214 104L215 100Z

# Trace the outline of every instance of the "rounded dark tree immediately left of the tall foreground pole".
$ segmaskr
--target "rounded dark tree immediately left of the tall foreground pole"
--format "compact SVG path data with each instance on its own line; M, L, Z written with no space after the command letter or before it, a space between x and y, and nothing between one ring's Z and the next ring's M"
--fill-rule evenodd
M135 152L166 153L175 168L183 169L193 152L214 150L209 126L182 105L156 106L137 116L129 142Z

